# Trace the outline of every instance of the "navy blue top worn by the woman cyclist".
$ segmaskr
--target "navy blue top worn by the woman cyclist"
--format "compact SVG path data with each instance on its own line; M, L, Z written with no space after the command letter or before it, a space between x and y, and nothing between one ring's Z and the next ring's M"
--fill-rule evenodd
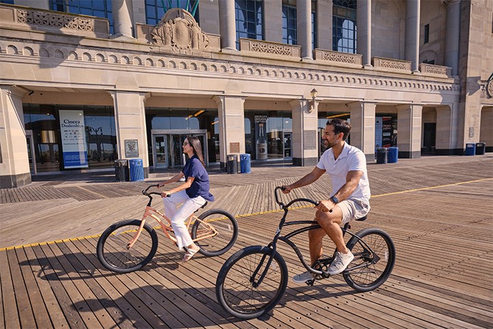
M214 201L214 195L209 192L209 175L196 155L188 159L181 172L185 175L185 180L189 177L195 178L192 185L185 191L188 197L203 197L207 201Z

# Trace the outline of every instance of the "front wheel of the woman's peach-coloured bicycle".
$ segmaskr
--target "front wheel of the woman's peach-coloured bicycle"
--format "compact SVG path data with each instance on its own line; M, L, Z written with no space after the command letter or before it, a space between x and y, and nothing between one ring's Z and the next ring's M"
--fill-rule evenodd
M140 223L137 219L119 221L101 234L97 243L97 258L106 269L129 273L142 269L154 257L157 234L148 223L144 224L137 242L127 249L127 243L134 237Z

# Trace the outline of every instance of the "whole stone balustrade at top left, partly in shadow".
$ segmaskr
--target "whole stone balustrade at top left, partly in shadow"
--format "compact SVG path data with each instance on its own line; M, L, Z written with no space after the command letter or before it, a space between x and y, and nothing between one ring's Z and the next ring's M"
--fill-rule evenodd
M16 5L0 5L0 25L15 29L31 29L96 38L110 37L108 19L94 16L31 9Z

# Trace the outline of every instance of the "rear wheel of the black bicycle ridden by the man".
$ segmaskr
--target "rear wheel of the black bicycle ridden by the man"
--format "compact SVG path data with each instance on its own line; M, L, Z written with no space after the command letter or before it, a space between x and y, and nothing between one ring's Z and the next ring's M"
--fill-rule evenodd
M342 276L346 283L356 291L372 291L380 287L392 273L396 258L394 241L389 234L378 228L365 228L355 235L359 236L359 239L362 239L372 249L372 252L357 237L353 236L346 246L353 252L355 258L342 272ZM374 253L379 260L372 264ZM351 270L365 263L366 266Z

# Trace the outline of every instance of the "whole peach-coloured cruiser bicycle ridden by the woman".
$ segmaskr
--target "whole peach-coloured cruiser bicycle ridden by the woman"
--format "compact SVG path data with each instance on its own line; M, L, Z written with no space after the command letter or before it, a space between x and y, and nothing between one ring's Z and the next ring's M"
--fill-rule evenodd
M176 243L173 236L171 221L166 215L152 208L153 195L161 193L148 192L148 186L142 194L149 197L142 219L127 219L114 223L99 237L97 258L101 264L116 273L129 273L144 267L151 261L157 250L157 233L148 219L157 221L166 237ZM207 202L201 207L205 208ZM199 211L199 210L197 210ZM238 223L235 217L226 210L212 209L203 212L199 217L190 215L186 220L190 236L200 247L205 256L219 256L227 252L238 237Z

